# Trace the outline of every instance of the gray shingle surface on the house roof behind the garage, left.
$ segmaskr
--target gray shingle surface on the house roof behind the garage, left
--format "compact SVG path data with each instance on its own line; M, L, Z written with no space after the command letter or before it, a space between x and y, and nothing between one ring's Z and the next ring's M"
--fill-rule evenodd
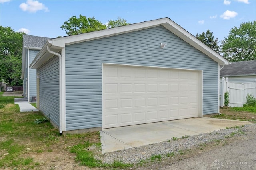
M23 47L25 48L42 48L44 43L51 38L38 37L33 35L23 35Z

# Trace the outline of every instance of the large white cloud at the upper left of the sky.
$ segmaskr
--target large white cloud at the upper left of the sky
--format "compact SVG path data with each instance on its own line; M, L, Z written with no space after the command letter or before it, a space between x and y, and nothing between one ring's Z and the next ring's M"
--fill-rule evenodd
M33 0L27 0L26 3L20 4L20 9L28 12L37 12L40 10L44 10L44 12L49 12L48 8L43 3Z

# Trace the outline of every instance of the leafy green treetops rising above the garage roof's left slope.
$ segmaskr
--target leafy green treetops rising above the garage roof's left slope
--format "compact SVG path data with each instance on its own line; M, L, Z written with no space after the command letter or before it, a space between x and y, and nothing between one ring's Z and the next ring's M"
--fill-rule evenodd
M76 35L129 24L130 23L127 23L123 18L118 17L117 20L109 20L108 25L106 26L94 17L87 18L86 16L80 15L79 18L76 16L70 17L69 20L65 21L60 28L64 29L67 35Z

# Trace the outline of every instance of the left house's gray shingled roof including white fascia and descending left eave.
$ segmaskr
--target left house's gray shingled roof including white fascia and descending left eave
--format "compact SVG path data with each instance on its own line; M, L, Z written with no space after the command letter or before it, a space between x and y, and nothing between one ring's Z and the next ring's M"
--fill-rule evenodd
M46 41L51 38L47 37L38 37L34 35L23 35L23 45L22 45L22 72L21 72L21 79L24 78L25 73L25 51L26 49L34 49L34 50L40 50L46 43Z

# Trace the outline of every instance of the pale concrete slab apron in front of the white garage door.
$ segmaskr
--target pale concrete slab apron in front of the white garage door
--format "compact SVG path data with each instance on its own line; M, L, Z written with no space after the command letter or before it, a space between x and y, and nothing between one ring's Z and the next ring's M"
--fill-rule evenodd
M250 124L250 122L196 117L103 129L100 131L102 153L172 140L172 137L180 138L185 135L210 133L226 127L245 124Z

